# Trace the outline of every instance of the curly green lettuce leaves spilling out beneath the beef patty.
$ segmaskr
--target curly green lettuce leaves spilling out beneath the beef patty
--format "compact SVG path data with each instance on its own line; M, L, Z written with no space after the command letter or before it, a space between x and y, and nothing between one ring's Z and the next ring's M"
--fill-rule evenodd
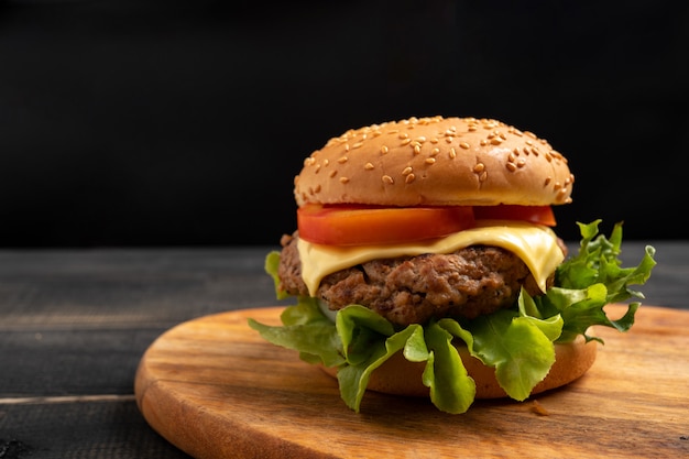
M526 400L555 362L555 343L569 342L582 335L587 341L591 326L627 331L641 303L627 305L626 314L611 320L604 310L610 303L644 298L632 285L643 285L655 266L655 249L647 245L641 262L622 267L619 259L622 223L610 238L599 234L599 223L578 223L581 243L576 255L557 267L555 285L545 295L525 291L510 309L475 319L429 320L400 328L376 313L350 305L339 310L335 323L324 315L318 300L300 296L281 315L282 326L267 326L249 319L251 328L267 341L299 352L308 363L338 368L340 395L347 406L359 412L371 373L396 352L424 367L423 383L433 404L440 411L464 413L474 401L475 384L462 363L455 343L463 342L469 353L495 369L497 382L517 401ZM280 252L266 256L265 270L278 289Z

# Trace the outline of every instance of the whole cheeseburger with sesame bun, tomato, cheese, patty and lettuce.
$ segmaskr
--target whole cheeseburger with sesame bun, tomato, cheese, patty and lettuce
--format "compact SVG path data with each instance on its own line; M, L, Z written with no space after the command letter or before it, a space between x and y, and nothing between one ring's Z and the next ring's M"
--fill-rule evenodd
M411 118L352 129L313 152L294 181L297 228L266 256L282 326L249 325L337 379L356 412L368 390L426 396L463 413L477 398L524 401L583 375L592 326L628 330L653 247L634 267L578 223L577 254L556 234L571 203L567 159L492 119Z

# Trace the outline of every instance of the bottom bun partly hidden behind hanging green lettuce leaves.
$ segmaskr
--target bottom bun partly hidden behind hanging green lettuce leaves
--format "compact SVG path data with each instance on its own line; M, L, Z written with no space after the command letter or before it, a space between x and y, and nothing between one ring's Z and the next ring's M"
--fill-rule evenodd
M507 394L495 379L495 369L485 367L481 361L469 354L466 347L458 347L467 372L477 384L477 398L501 398ZM550 372L532 391L532 395L559 387L586 373L595 361L595 341L586 342L582 336L568 343L555 345L555 363ZM409 362L402 352L396 352L381 367L371 373L368 390L385 394L406 396L428 396L428 387L422 382L425 362ZM337 368L321 369L332 378L337 378Z

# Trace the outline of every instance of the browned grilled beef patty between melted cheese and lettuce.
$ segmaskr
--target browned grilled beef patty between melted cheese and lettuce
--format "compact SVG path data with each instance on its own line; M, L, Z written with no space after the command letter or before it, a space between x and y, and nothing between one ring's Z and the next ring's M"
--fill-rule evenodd
M302 280L297 239L295 231L281 240L280 288L291 295L309 296ZM566 251L561 241L560 245ZM540 294L517 255L497 247L472 245L446 254L361 263L324 277L315 296L331 310L358 304L406 326L431 317L474 318L511 307L522 286L531 295Z

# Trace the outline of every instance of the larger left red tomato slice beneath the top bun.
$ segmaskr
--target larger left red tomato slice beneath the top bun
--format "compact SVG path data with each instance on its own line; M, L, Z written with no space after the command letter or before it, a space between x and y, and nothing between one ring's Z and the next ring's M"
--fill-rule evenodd
M376 207L309 204L297 209L299 238L328 245L439 238L474 226L470 206Z

